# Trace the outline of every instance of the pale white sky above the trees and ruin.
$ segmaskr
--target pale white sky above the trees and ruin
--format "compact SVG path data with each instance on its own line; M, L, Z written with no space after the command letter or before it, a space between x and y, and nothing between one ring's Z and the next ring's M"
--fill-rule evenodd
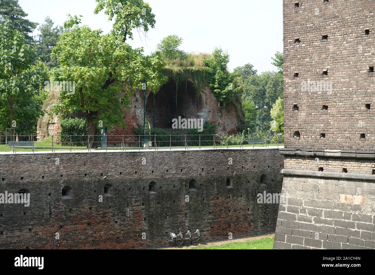
M133 31L132 47L144 47L145 54L169 34L182 37L181 50L208 52L221 46L228 51L231 71L246 63L258 73L277 70L271 64L276 51L282 52L282 0L144 0L156 15L148 39ZM83 15L82 23L108 33L112 24L104 11L94 14L95 0L18 0L27 19L41 24L46 16L63 25L67 14ZM38 33L37 29L33 35Z

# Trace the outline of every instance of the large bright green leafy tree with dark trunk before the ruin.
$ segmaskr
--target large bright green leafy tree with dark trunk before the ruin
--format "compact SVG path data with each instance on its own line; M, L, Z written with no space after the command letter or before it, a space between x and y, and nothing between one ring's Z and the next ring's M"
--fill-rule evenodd
M164 62L160 52L144 56L143 49L132 49L113 34L102 35L101 30L80 27L77 17L70 17L65 27L71 28L62 34L52 50L57 67L52 69L54 81L75 83L74 91L60 91L59 103L54 113L65 110L68 113L82 111L89 128L89 135L95 135L99 120L103 125L124 127L123 110L129 106L132 93L117 95L124 89L142 89L145 80L153 92L166 82L161 74ZM129 81L127 81L129 80ZM122 102L120 103L120 100ZM93 147L94 139L90 138Z

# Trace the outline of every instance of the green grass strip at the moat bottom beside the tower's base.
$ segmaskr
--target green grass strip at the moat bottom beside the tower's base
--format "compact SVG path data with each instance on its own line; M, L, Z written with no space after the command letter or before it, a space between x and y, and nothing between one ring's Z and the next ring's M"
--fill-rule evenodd
M273 238L263 238L247 242L229 242L222 245L201 245L191 249L272 249Z

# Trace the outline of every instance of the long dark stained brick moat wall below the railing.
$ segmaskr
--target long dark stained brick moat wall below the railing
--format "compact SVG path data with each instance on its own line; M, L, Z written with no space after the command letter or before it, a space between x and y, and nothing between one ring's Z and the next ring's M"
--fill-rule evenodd
M275 232L279 205L257 194L281 192L282 166L277 149L0 155L0 193L30 192L29 207L0 204L0 247L152 248L180 230L204 241Z

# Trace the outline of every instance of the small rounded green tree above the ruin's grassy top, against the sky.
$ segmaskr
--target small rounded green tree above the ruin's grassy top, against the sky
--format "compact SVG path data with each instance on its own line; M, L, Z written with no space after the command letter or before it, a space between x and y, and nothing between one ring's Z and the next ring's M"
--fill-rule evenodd
M164 37L160 43L156 45L157 49L162 52L162 57L167 60L174 60L177 58L186 58L187 55L184 51L178 49L182 43L182 38L176 34Z

